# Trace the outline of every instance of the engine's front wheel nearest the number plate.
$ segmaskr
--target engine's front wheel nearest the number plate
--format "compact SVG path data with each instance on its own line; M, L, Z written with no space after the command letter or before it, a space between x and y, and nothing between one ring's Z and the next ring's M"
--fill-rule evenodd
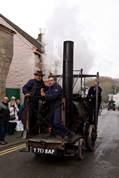
M85 140L83 138L77 141L76 157L80 160L85 158Z

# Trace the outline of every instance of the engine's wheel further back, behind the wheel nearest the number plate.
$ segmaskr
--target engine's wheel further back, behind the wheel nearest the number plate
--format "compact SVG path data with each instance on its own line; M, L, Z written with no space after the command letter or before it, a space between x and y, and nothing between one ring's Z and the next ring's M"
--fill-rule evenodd
M95 141L97 138L97 133L94 125L89 126L89 134L87 138L87 146L89 151L94 151L95 149Z

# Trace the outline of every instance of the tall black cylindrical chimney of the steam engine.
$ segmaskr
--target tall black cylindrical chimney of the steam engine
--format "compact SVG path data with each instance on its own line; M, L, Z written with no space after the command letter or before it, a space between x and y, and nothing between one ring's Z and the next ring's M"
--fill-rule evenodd
M63 48L63 95L66 98L65 123L71 126L73 95L73 41L64 41Z

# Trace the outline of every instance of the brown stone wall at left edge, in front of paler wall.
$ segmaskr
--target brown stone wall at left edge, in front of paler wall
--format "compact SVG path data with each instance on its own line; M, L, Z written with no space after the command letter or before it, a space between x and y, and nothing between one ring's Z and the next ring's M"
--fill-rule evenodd
M5 95L6 78L13 57L14 32L0 24L0 98Z

